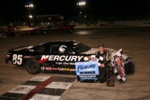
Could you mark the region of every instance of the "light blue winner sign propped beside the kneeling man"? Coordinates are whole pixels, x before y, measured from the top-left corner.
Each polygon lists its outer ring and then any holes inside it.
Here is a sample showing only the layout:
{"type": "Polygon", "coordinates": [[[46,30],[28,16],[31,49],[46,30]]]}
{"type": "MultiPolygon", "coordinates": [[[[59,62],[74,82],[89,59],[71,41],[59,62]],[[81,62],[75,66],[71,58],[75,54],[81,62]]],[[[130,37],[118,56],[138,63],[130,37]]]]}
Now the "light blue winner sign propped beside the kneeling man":
{"type": "Polygon", "coordinates": [[[99,67],[97,61],[76,62],[75,67],[78,81],[96,82],[99,79],[99,67]]]}

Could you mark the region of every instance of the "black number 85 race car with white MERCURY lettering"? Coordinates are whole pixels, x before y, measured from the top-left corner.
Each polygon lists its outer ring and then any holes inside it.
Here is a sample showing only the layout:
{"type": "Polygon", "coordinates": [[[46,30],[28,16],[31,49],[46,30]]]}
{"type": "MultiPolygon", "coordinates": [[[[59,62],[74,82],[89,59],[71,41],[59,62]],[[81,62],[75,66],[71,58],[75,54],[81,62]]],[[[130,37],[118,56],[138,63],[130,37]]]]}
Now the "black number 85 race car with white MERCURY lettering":
{"type": "MultiPolygon", "coordinates": [[[[108,52],[117,51],[105,48],[108,52]]],[[[76,72],[75,63],[94,55],[98,48],[92,48],[75,40],[50,41],[36,46],[21,46],[10,49],[6,56],[7,64],[23,66],[31,74],[41,71],[76,72]]],[[[126,73],[134,72],[134,63],[125,54],[126,73]]]]}

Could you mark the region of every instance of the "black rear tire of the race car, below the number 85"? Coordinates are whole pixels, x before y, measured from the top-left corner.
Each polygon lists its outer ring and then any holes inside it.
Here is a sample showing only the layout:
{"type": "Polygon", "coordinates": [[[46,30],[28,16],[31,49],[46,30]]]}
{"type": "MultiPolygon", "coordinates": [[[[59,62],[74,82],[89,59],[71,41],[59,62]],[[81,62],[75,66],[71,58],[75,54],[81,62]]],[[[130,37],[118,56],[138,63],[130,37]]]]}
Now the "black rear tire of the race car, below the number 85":
{"type": "Polygon", "coordinates": [[[41,72],[40,64],[35,59],[29,59],[25,63],[25,68],[30,74],[38,74],[41,72]]]}

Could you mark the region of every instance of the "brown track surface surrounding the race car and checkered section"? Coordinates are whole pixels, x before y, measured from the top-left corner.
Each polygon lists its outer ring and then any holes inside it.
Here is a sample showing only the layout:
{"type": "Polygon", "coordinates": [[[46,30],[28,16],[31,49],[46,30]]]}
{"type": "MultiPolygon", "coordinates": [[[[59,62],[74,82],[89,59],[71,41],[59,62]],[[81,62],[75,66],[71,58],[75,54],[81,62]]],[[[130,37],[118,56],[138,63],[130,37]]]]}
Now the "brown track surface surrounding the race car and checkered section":
{"type": "MultiPolygon", "coordinates": [[[[59,100],[150,99],[149,26],[102,27],[99,29],[78,29],[75,30],[74,33],[52,32],[47,35],[30,35],[13,38],[0,38],[1,96],[4,96],[6,93],[8,93],[8,91],[13,90],[15,87],[24,84],[25,82],[36,76],[61,76],[76,78],[75,75],[58,73],[40,73],[38,75],[31,75],[26,72],[25,69],[22,67],[5,64],[5,56],[8,49],[22,45],[36,45],[42,42],[48,42],[53,40],[76,40],[91,47],[97,47],[99,43],[104,43],[105,47],[108,48],[113,48],[116,50],[122,48],[123,52],[129,55],[135,63],[135,73],[127,75],[127,80],[125,83],[120,83],[117,81],[117,79],[115,79],[115,87],[107,87],[105,83],[80,83],[77,82],[77,80],[74,80],[72,81],[72,85],[60,95],[59,100]]],[[[38,98],[36,100],[44,100],[44,98],[38,98]]]]}

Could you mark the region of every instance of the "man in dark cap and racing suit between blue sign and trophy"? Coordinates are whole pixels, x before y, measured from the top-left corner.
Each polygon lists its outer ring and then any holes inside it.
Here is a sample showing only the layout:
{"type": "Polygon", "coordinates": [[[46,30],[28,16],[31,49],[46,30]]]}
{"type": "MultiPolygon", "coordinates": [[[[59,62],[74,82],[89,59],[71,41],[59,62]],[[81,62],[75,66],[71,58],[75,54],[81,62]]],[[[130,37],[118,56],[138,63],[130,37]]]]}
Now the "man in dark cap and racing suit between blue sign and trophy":
{"type": "Polygon", "coordinates": [[[110,63],[110,54],[104,50],[104,44],[99,44],[99,51],[96,52],[96,58],[99,66],[99,82],[106,81],[106,70],[110,63]]]}

